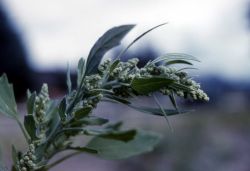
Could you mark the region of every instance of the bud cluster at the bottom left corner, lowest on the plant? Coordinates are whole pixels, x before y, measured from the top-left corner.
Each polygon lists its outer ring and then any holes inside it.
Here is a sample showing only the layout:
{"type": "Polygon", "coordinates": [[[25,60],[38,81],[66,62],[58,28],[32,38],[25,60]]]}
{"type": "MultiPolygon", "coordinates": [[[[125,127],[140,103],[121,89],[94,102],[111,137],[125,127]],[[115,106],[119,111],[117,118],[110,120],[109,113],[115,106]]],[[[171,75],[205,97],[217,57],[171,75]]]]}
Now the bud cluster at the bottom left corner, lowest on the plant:
{"type": "Polygon", "coordinates": [[[29,144],[28,151],[22,156],[17,164],[20,171],[34,170],[36,167],[35,145],[29,144]]]}

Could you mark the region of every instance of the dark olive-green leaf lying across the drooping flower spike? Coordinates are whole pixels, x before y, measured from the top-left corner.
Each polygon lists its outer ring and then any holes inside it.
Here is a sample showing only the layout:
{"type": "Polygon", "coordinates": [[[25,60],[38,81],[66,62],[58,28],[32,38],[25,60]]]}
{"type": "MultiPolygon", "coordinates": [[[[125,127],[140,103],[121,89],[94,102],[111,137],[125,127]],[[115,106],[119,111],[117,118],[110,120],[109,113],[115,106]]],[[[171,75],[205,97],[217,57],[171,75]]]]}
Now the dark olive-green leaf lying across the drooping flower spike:
{"type": "Polygon", "coordinates": [[[160,88],[169,86],[174,80],[165,77],[134,78],[131,87],[139,94],[147,95],[159,91],[160,88]]]}

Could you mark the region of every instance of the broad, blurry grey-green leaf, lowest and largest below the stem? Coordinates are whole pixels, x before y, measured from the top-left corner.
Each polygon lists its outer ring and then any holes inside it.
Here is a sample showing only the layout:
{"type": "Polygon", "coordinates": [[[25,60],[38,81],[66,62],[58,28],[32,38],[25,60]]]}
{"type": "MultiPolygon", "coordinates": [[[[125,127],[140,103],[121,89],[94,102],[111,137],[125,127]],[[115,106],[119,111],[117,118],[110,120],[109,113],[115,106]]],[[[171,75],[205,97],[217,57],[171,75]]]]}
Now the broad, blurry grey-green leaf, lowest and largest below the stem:
{"type": "Polygon", "coordinates": [[[97,156],[101,158],[115,160],[150,152],[159,143],[159,140],[159,134],[137,131],[134,139],[128,142],[96,137],[86,147],[96,150],[97,156]]]}

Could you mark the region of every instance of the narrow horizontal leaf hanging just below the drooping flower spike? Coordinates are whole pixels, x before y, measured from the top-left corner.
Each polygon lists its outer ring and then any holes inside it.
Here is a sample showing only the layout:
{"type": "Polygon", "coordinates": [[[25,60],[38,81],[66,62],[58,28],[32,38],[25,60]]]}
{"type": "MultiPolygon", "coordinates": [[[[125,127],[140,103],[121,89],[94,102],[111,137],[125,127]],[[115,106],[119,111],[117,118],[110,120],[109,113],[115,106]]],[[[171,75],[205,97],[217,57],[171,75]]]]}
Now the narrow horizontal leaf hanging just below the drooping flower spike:
{"type": "MultiPolygon", "coordinates": [[[[131,107],[137,111],[140,111],[142,113],[147,113],[147,114],[152,114],[152,115],[157,115],[157,116],[164,116],[164,113],[162,113],[161,109],[159,109],[159,108],[150,108],[150,107],[133,106],[133,105],[129,105],[129,107],[131,107]]],[[[176,110],[176,109],[164,109],[164,111],[165,111],[165,114],[167,116],[191,112],[189,110],[176,110]]]]}

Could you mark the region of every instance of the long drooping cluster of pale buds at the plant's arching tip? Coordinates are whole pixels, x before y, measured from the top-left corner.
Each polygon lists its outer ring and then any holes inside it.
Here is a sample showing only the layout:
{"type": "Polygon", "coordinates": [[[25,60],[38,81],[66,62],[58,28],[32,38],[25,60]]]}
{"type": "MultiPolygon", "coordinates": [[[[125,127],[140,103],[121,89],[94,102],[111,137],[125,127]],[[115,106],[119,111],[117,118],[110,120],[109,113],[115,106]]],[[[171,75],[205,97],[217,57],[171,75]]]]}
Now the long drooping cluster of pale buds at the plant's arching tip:
{"type": "MultiPolygon", "coordinates": [[[[166,86],[160,90],[164,95],[176,94],[180,97],[191,97],[194,100],[208,101],[207,94],[200,89],[200,85],[188,77],[188,74],[183,71],[165,65],[147,64],[143,68],[137,68],[137,58],[129,59],[127,62],[119,62],[110,73],[111,80],[118,80],[119,83],[130,84],[134,78],[163,76],[174,80],[175,83],[181,84],[186,88],[166,86]]],[[[99,69],[109,68],[110,60],[104,61],[99,69]]],[[[101,71],[101,70],[100,70],[101,71]]],[[[117,96],[130,97],[135,92],[130,86],[120,84],[112,88],[117,96]]],[[[91,103],[90,103],[91,104],[91,103]]]]}

